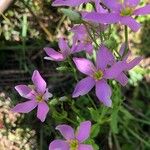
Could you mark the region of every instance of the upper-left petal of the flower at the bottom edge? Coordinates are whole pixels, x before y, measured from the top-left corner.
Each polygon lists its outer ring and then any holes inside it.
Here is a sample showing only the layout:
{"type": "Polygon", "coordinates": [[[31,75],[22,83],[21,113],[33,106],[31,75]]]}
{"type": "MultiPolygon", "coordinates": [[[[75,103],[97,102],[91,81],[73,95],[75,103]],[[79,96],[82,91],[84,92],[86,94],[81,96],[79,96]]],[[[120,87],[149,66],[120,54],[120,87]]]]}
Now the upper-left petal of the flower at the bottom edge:
{"type": "Polygon", "coordinates": [[[66,140],[74,139],[74,130],[68,125],[58,125],[56,129],[62,134],[66,140]]]}

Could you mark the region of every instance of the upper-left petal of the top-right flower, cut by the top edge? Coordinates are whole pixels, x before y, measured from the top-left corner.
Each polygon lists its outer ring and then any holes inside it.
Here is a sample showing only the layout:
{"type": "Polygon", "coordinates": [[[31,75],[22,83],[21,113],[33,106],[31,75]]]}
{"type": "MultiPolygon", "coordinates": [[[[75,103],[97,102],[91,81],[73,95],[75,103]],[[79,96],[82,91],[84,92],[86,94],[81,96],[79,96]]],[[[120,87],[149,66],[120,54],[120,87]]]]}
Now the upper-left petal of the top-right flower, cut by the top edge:
{"type": "Polygon", "coordinates": [[[119,11],[122,8],[118,0],[103,0],[103,3],[112,11],[119,11]]]}

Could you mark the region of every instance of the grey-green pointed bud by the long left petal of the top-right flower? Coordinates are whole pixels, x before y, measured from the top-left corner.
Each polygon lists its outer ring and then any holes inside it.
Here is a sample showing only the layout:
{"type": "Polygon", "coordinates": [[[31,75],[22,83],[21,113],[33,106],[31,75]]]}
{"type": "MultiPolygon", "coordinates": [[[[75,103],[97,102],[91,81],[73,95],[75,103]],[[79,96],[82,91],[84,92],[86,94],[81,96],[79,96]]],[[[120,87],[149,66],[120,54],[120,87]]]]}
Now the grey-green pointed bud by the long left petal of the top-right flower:
{"type": "Polygon", "coordinates": [[[61,8],[60,11],[64,15],[66,15],[72,22],[74,22],[74,23],[81,23],[82,22],[82,18],[78,12],[73,11],[71,9],[65,9],[65,8],[61,8]]]}

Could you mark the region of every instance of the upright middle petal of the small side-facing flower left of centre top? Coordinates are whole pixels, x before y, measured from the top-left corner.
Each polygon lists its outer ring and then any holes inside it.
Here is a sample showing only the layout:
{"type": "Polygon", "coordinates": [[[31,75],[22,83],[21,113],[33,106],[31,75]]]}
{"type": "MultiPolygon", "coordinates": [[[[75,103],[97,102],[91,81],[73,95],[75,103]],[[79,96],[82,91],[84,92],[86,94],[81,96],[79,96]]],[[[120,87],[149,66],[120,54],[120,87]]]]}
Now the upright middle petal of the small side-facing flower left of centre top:
{"type": "Polygon", "coordinates": [[[67,57],[69,54],[71,54],[71,50],[68,46],[68,43],[63,38],[59,39],[59,48],[63,54],[64,57],[67,57]]]}

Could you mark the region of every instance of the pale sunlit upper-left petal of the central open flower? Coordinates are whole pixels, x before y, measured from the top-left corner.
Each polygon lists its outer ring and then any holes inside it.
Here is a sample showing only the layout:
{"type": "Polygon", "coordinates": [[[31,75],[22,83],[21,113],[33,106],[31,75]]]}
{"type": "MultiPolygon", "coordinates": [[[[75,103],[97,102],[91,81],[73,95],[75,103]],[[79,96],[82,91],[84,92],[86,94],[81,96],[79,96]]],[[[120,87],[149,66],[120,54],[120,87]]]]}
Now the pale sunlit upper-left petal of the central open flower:
{"type": "Polygon", "coordinates": [[[93,72],[96,70],[95,66],[91,61],[85,58],[73,58],[73,61],[77,67],[77,69],[86,74],[86,75],[92,75],[93,72]]]}

